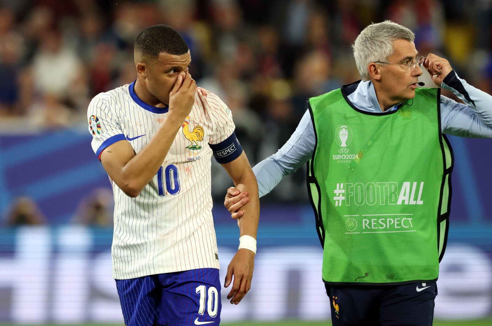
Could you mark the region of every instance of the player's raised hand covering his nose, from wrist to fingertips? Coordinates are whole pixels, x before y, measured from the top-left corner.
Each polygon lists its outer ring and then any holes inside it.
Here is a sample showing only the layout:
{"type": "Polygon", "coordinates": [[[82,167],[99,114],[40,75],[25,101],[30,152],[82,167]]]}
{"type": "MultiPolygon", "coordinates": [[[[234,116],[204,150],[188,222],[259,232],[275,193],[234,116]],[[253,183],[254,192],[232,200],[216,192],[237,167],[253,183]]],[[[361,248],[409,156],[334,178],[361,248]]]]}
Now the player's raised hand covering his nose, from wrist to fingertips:
{"type": "Polygon", "coordinates": [[[176,79],[171,93],[169,93],[169,112],[173,115],[177,114],[180,121],[185,120],[193,108],[196,88],[196,82],[191,78],[191,75],[181,73],[176,79]]]}

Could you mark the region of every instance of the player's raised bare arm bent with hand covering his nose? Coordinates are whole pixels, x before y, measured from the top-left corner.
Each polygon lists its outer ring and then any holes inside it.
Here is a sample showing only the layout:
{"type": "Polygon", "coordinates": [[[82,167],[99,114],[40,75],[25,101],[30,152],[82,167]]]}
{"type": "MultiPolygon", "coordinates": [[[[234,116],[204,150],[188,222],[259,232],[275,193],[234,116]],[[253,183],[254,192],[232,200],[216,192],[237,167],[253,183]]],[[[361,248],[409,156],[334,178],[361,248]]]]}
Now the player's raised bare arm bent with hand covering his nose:
{"type": "Polygon", "coordinates": [[[120,140],[102,151],[100,158],[104,169],[126,195],[138,196],[159,170],[193,107],[196,88],[190,74],[178,76],[169,95],[169,112],[164,123],[138,154],[127,140],[120,140]]]}

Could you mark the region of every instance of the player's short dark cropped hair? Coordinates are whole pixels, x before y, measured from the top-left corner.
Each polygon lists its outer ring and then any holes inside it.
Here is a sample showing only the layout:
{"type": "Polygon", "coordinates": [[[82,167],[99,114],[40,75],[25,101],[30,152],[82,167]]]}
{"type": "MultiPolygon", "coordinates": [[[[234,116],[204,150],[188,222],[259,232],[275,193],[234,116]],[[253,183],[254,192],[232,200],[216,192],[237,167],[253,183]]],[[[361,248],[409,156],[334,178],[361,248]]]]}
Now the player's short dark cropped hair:
{"type": "Polygon", "coordinates": [[[154,25],[145,28],[135,40],[134,51],[150,57],[160,53],[182,55],[188,52],[188,45],[183,36],[173,27],[154,25]]]}

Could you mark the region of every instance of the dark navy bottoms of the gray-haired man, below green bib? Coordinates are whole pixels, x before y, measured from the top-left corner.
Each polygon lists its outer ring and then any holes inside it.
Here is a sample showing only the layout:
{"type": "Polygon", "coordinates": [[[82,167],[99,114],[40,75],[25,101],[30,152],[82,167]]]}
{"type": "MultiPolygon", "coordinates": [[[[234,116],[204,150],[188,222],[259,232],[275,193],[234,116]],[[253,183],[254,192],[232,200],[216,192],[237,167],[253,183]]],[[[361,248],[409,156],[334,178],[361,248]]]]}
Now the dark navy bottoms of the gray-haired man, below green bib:
{"type": "Polygon", "coordinates": [[[325,288],[333,326],[432,326],[435,282],[325,288]]]}

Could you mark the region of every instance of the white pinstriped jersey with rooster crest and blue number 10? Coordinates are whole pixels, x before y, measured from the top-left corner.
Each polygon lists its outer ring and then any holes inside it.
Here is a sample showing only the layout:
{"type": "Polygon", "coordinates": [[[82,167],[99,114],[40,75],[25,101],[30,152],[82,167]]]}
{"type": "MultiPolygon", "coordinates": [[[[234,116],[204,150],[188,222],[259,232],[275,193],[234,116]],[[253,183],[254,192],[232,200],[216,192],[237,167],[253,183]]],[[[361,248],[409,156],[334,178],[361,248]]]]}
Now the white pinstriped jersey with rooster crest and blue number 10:
{"type": "MultiPolygon", "coordinates": [[[[92,149],[128,141],[135,153],[152,139],[168,108],[140,100],[134,83],[95,96],[88,109],[92,149]]],[[[198,87],[189,116],[160,169],[132,198],[110,179],[115,199],[112,244],[113,277],[219,268],[212,218],[209,144],[231,136],[230,110],[214,94],[198,87]]]]}

